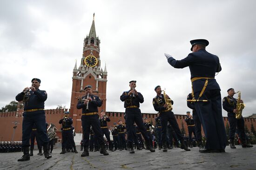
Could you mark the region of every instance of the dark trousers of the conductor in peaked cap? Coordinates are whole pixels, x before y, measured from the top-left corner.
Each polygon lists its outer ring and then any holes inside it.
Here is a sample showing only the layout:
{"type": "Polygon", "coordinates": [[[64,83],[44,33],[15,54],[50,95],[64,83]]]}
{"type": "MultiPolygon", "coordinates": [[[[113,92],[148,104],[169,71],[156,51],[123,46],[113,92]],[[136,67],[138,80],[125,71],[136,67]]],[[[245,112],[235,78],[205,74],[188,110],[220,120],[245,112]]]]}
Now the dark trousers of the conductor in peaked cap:
{"type": "MultiPolygon", "coordinates": [[[[195,98],[200,92],[195,92],[195,98]]],[[[208,102],[195,102],[195,110],[202,123],[206,137],[206,149],[223,150],[227,144],[227,136],[222,117],[222,98],[220,90],[205,90],[201,100],[208,102]]]]}

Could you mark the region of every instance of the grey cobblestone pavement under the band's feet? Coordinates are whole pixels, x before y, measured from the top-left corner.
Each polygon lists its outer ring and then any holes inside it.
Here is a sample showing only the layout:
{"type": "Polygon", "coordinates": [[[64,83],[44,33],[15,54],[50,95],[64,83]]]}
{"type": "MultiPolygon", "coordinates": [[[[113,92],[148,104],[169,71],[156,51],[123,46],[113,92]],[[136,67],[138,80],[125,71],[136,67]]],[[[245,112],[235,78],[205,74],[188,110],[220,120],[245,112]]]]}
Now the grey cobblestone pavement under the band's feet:
{"type": "MultiPolygon", "coordinates": [[[[79,147],[77,147],[79,148],[79,147]]],[[[89,152],[89,157],[81,157],[81,152],[60,154],[54,149],[52,158],[34,156],[29,161],[18,162],[23,153],[0,153],[0,170],[256,170],[256,145],[253,148],[226,148],[225,153],[200,153],[198,148],[184,151],[179,148],[154,153],[148,150],[127,150],[109,152],[103,156],[100,152],[89,152]]]]}

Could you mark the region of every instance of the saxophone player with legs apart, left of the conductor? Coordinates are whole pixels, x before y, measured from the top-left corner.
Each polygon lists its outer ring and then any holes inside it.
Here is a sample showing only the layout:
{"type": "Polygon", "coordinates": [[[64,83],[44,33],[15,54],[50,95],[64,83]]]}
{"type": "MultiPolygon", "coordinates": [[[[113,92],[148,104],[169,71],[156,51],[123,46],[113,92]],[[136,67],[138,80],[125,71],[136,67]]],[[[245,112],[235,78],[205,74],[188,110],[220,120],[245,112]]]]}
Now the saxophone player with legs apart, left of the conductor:
{"type": "MultiPolygon", "coordinates": [[[[155,111],[159,111],[160,112],[160,122],[161,122],[161,126],[162,126],[162,146],[163,146],[163,152],[167,151],[167,144],[166,144],[166,140],[167,140],[167,123],[168,121],[170,122],[170,124],[172,125],[175,133],[177,134],[178,139],[181,142],[181,149],[184,149],[186,151],[190,151],[190,149],[188,149],[188,147],[184,144],[183,141],[183,136],[182,133],[180,131],[179,125],[177,123],[177,120],[174,116],[174,113],[171,110],[168,110],[168,105],[166,104],[166,101],[164,99],[164,96],[162,93],[162,89],[160,85],[157,85],[155,87],[155,92],[156,92],[156,97],[153,98],[153,106],[155,111]]],[[[171,103],[173,105],[173,100],[171,100],[171,103]]]]}

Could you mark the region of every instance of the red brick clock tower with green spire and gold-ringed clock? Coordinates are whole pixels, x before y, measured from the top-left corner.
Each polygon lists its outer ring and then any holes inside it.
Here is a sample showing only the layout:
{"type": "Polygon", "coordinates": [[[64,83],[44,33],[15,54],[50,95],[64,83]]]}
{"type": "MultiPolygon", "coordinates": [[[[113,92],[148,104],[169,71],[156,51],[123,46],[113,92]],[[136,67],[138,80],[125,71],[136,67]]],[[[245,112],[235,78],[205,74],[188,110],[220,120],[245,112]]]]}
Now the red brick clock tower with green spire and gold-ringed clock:
{"type": "Polygon", "coordinates": [[[100,39],[96,36],[94,15],[93,23],[90,29],[89,35],[84,39],[83,55],[81,58],[81,64],[77,69],[77,63],[75,62],[73,70],[73,85],[70,104],[70,117],[73,117],[73,125],[75,131],[80,133],[81,130],[81,113],[82,110],[76,109],[78,99],[85,96],[83,90],[86,85],[92,85],[93,94],[101,98],[102,106],[99,109],[106,110],[106,88],[107,88],[107,68],[105,64],[104,71],[101,68],[100,58],[100,39]]]}

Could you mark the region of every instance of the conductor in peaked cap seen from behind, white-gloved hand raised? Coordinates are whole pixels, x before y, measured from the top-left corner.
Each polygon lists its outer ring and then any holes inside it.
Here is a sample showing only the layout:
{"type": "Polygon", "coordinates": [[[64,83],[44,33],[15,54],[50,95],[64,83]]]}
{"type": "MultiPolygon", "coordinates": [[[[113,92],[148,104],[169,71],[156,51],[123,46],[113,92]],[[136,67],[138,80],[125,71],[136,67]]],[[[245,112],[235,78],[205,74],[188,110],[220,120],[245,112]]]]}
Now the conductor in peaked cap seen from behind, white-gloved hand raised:
{"type": "Polygon", "coordinates": [[[215,79],[215,73],[222,70],[220,61],[216,55],[205,50],[208,40],[194,39],[190,43],[192,53],[186,58],[175,60],[169,54],[165,56],[175,68],[189,66],[195,110],[207,140],[205,148],[199,152],[225,152],[227,136],[222,118],[221,89],[215,79]]]}

